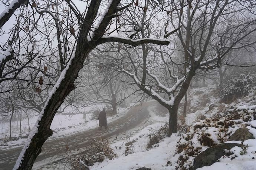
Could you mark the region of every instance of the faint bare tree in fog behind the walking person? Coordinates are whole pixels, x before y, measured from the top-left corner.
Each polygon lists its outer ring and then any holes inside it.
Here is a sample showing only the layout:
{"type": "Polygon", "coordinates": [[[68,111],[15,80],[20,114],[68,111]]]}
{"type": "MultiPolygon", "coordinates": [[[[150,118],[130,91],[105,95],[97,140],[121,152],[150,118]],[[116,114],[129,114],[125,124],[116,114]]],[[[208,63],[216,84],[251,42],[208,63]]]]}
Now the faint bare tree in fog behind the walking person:
{"type": "MultiPolygon", "coordinates": [[[[101,49],[106,51],[108,48],[102,46],[101,49]]],[[[104,103],[111,106],[111,114],[115,115],[118,113],[118,106],[129,96],[129,87],[125,83],[128,77],[122,77],[112,68],[114,61],[108,53],[102,52],[99,47],[93,51],[79,74],[81,88],[78,88],[78,91],[86,94],[83,97],[86,106],[104,103]]]]}

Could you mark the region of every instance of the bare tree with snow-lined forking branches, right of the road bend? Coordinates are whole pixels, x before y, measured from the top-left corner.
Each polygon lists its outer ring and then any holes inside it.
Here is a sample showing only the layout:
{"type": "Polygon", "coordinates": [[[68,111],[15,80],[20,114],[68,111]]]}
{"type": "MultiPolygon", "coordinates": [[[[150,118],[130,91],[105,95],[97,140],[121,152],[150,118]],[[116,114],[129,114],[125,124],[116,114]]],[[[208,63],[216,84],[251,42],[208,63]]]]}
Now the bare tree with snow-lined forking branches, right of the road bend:
{"type": "MultiPolygon", "coordinates": [[[[174,0],[171,6],[163,3],[160,6],[163,11],[168,11],[168,20],[161,37],[173,40],[171,50],[161,46],[152,50],[152,45],[145,44],[140,46],[142,55],[134,49],[124,52],[125,59],[118,59],[119,70],[169,110],[169,136],[177,132],[178,105],[197,72],[227,64],[229,61],[224,61],[230,52],[255,44],[252,35],[256,30],[256,20],[251,12],[255,9],[255,2],[174,0]],[[230,20],[236,22],[230,25],[230,20]],[[176,36],[171,37],[168,29],[177,28],[180,29],[173,34],[176,36]],[[177,51],[183,54],[180,59],[177,51]]],[[[141,16],[146,16],[145,10],[141,13],[141,16]]],[[[147,37],[153,33],[152,23],[142,17],[138,34],[147,37]]]]}

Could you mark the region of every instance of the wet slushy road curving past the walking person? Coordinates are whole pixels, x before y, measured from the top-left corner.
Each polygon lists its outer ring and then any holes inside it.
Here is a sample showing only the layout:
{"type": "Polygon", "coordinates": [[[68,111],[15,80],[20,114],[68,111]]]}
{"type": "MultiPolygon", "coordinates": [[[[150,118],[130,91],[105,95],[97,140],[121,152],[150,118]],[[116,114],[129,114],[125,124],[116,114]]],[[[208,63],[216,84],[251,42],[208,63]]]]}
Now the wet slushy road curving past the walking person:
{"type": "MultiPolygon", "coordinates": [[[[148,114],[147,107],[154,105],[156,102],[151,101],[143,103],[141,106],[135,106],[128,110],[128,112],[119,119],[108,123],[108,129],[102,130],[104,137],[113,137],[119,133],[125,132],[126,130],[135,128],[147,119],[150,115],[148,114]]],[[[103,128],[104,129],[104,128],[103,128]]],[[[42,152],[36,159],[35,166],[43,166],[43,164],[49,163],[54,159],[54,157],[60,153],[63,153],[68,146],[69,150],[75,150],[78,147],[86,147],[89,145],[89,139],[98,138],[101,136],[101,131],[98,128],[88,129],[85,132],[79,132],[75,134],[70,134],[69,136],[64,136],[62,138],[58,137],[55,139],[47,140],[42,147],[42,152]]],[[[16,162],[17,157],[21,151],[22,147],[16,147],[13,149],[6,149],[0,151],[0,169],[11,170],[16,162]]],[[[34,169],[34,168],[33,168],[34,169]]],[[[37,169],[37,168],[36,168],[37,169]]]]}

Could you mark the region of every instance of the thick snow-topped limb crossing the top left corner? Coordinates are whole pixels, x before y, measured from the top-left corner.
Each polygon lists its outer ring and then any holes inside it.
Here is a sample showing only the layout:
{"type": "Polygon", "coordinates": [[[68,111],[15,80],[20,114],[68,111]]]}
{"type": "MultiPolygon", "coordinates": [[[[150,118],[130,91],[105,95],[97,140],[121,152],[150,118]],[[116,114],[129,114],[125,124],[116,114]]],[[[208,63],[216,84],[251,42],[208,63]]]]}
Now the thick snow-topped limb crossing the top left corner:
{"type": "Polygon", "coordinates": [[[10,19],[14,11],[21,5],[26,4],[27,0],[13,0],[12,3],[0,14],[0,28],[10,19]]]}

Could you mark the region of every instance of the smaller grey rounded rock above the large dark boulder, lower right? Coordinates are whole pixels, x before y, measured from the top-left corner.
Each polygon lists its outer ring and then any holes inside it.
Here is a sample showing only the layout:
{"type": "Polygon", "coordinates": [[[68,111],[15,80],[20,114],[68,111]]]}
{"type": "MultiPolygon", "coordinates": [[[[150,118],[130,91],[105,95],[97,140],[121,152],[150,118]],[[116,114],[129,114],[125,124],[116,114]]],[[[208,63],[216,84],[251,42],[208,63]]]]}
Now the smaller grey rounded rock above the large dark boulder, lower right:
{"type": "Polygon", "coordinates": [[[236,132],[233,133],[229,137],[229,140],[247,140],[247,139],[255,139],[253,137],[252,133],[249,132],[248,128],[239,128],[236,130],[236,132]]]}

